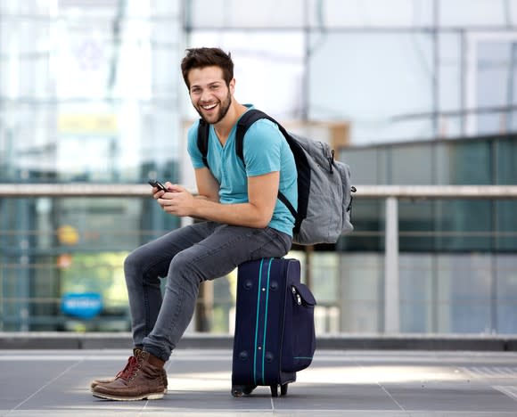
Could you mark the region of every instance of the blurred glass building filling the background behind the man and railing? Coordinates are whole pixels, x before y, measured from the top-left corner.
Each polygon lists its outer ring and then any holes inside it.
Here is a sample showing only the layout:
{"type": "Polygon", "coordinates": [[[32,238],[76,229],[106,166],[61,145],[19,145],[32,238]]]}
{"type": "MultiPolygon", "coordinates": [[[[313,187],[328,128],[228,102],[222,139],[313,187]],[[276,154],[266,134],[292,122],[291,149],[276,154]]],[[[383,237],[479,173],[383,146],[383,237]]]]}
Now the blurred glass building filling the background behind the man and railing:
{"type": "MultiPolygon", "coordinates": [[[[517,183],[517,0],[0,0],[0,183],[193,187],[185,48],[236,97],[332,143],[356,231],[293,248],[319,332],[382,332],[384,201],[361,184],[517,183]]],[[[401,200],[396,331],[517,332],[515,200],[401,200]]],[[[127,331],[128,251],[180,225],[149,198],[0,195],[0,331],[127,331]]],[[[232,331],[233,274],[191,330],[232,331]]]]}

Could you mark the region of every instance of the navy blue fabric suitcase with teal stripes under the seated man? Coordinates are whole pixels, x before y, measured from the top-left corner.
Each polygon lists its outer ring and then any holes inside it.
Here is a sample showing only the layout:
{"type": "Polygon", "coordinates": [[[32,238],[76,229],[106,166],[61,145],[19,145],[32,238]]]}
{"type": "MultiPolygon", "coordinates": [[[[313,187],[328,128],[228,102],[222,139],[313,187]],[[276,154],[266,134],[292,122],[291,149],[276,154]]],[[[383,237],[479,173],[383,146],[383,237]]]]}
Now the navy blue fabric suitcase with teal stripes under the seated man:
{"type": "Polygon", "coordinates": [[[269,386],[287,394],[296,372],[307,368],[316,349],[316,300],[300,283],[296,259],[264,258],[239,266],[235,312],[232,395],[269,386]]]}

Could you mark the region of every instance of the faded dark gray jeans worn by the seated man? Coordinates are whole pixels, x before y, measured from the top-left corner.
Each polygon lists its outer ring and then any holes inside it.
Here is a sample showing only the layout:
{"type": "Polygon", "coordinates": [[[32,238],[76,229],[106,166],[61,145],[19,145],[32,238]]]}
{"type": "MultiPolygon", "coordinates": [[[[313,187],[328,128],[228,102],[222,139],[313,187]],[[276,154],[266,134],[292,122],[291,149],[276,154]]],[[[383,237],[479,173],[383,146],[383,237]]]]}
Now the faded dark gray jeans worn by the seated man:
{"type": "Polygon", "coordinates": [[[224,276],[243,262],[281,258],[291,237],[267,227],[203,222],[176,229],[126,258],[135,346],[167,361],[190,323],[201,282],[224,276]],[[160,277],[167,277],[165,292],[160,277]]]}

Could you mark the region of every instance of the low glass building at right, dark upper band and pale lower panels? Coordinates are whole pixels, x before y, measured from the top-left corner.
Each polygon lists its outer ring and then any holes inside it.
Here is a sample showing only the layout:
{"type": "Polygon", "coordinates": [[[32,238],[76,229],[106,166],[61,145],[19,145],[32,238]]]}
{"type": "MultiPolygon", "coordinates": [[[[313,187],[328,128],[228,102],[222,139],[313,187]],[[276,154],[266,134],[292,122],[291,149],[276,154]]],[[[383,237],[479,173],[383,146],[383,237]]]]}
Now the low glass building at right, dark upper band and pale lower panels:
{"type": "MultiPolygon", "coordinates": [[[[357,184],[517,180],[516,135],[350,147],[341,158],[357,184]]],[[[347,331],[383,329],[384,207],[356,199],[356,231],[337,245],[347,331]]],[[[505,199],[398,201],[400,331],[517,331],[516,212],[517,201],[505,199]]]]}

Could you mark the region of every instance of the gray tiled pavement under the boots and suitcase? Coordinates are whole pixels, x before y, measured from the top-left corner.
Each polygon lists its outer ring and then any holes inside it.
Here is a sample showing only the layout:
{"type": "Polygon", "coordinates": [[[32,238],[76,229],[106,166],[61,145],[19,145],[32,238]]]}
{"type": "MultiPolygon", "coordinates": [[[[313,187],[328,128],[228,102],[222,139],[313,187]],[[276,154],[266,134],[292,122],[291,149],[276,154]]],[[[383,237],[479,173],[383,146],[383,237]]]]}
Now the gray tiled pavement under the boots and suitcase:
{"type": "Polygon", "coordinates": [[[269,388],[234,398],[231,351],[178,349],[160,400],[95,398],[89,381],[129,351],[0,350],[0,415],[517,416],[517,353],[321,350],[285,397],[269,388]]]}

